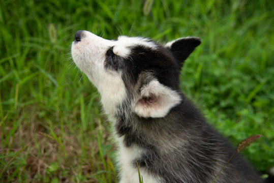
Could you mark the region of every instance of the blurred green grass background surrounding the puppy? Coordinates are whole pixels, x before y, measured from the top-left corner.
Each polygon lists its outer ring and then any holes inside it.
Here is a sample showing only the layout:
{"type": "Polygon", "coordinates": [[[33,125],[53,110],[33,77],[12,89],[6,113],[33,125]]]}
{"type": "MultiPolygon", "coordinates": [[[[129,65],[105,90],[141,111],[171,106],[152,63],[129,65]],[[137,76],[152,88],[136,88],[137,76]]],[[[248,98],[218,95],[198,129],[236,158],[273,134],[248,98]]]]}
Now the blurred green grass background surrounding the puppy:
{"type": "Polygon", "coordinates": [[[162,0],[145,12],[139,0],[0,5],[1,182],[116,182],[100,96],[70,55],[78,29],[105,39],[200,37],[182,90],[235,146],[263,135],[243,154],[258,171],[274,166],[273,1],[162,0]]]}

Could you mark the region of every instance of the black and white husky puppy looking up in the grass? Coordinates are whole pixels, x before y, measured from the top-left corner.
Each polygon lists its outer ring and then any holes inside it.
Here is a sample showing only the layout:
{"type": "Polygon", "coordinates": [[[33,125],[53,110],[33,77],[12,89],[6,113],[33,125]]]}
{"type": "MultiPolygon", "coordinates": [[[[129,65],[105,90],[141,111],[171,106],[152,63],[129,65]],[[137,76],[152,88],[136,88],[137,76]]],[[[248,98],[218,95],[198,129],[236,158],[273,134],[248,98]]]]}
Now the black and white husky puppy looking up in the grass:
{"type": "MultiPolygon", "coordinates": [[[[234,153],[179,89],[182,64],[199,38],[160,45],[77,31],[72,57],[98,88],[117,140],[120,183],[212,182],[234,153]]],[[[236,155],[215,182],[261,182],[236,155]]]]}

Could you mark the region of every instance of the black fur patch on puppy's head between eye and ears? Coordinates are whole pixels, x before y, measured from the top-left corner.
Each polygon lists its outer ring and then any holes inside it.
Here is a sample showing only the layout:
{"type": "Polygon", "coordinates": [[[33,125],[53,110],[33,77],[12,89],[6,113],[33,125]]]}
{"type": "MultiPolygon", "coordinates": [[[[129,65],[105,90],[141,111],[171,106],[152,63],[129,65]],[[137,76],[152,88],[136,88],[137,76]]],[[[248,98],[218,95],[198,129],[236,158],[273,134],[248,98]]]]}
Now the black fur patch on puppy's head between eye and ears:
{"type": "Polygon", "coordinates": [[[173,59],[171,52],[159,46],[158,50],[143,46],[130,48],[129,58],[123,63],[123,78],[126,85],[136,83],[141,72],[151,72],[158,81],[172,89],[178,90],[179,66],[173,59]]]}

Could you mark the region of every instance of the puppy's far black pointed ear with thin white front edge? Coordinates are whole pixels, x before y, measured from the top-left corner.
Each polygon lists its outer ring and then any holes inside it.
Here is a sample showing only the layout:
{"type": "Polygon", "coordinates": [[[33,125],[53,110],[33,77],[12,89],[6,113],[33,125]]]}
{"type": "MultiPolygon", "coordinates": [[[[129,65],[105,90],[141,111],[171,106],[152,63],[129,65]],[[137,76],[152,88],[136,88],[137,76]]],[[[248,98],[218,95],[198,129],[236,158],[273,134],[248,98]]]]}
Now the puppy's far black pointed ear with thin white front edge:
{"type": "Polygon", "coordinates": [[[176,58],[181,67],[192,51],[201,44],[201,39],[196,37],[179,38],[175,41],[166,43],[172,55],[176,58]]]}

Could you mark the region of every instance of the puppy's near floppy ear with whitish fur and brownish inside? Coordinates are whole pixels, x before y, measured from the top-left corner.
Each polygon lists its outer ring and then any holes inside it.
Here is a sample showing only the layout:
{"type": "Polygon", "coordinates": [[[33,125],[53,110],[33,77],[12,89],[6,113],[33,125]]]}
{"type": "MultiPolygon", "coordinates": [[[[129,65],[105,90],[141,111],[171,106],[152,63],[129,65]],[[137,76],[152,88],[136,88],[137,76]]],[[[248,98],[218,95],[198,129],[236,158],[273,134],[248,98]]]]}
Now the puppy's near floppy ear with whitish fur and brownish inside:
{"type": "Polygon", "coordinates": [[[181,96],[174,90],[164,86],[157,80],[145,84],[133,110],[141,117],[164,117],[182,101],[181,96]]]}

